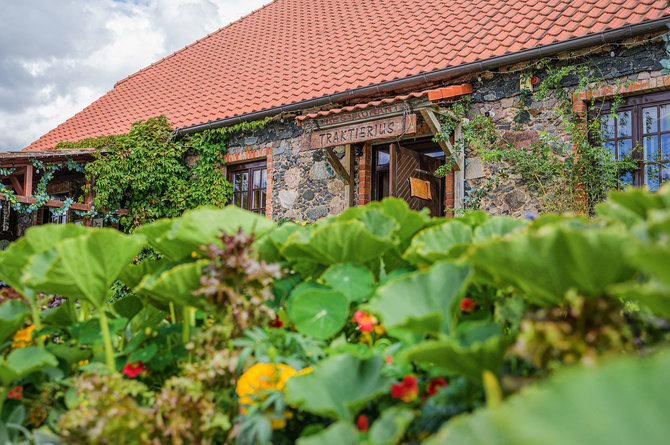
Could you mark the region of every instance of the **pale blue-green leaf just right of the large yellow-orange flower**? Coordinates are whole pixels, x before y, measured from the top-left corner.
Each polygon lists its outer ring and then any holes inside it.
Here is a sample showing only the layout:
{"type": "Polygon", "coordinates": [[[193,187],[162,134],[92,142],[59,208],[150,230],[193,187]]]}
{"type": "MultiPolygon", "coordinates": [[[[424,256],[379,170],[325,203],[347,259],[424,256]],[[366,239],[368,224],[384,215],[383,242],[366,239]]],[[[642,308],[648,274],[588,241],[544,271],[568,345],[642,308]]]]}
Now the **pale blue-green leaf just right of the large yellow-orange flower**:
{"type": "Polygon", "coordinates": [[[286,402],[310,413],[353,421],[375,397],[388,392],[391,379],[382,375],[384,359],[333,355],[312,372],[286,382],[286,402]]]}

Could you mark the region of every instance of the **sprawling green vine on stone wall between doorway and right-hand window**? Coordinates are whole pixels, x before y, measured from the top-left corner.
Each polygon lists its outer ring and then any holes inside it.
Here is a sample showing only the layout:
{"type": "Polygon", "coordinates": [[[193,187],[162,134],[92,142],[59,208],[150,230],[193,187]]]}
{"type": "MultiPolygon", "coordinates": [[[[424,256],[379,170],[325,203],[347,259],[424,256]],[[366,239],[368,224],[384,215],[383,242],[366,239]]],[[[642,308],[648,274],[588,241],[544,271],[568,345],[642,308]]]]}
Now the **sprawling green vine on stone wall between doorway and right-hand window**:
{"type": "MultiPolygon", "coordinates": [[[[468,101],[454,104],[451,112],[442,116],[442,131],[435,140],[449,140],[457,123],[462,122],[462,136],[455,141],[454,152],[467,149],[471,156],[478,156],[485,165],[493,167],[476,187],[466,190],[466,210],[479,209],[489,194],[495,193],[514,175],[534,193],[545,211],[592,213],[609,190],[625,188],[622,178],[639,167],[635,160],[639,147],[617,160],[604,144],[601,111],[605,98],[599,104],[592,104],[591,115],[586,120],[573,111],[573,90],[562,85],[567,76],[576,75],[579,83],[575,90],[585,91],[598,88],[604,76],[589,75],[591,67],[587,64],[553,68],[548,61],[540,61],[534,69],[544,70],[545,79],[535,93],[521,93],[511,132],[500,130],[491,117],[472,116],[468,101]],[[523,115],[528,113],[529,104],[532,100],[547,99],[550,94],[557,99],[553,112],[562,137],[542,131],[537,142],[529,147],[518,147],[523,115]]],[[[620,84],[626,85],[626,82],[620,84]]],[[[611,100],[609,113],[616,115],[622,97],[615,95],[611,100]]],[[[447,159],[436,174],[445,176],[455,163],[454,157],[447,159]]]]}

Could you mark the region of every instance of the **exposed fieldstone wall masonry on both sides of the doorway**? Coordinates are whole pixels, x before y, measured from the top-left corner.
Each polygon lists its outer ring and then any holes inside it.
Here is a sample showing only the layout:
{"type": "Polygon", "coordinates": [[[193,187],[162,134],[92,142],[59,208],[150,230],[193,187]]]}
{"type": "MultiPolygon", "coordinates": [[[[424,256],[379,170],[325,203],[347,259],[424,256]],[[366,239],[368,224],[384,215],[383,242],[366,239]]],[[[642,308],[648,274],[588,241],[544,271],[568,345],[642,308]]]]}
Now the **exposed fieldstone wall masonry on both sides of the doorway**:
{"type": "MultiPolygon", "coordinates": [[[[658,76],[661,69],[660,60],[668,57],[663,42],[660,39],[652,43],[639,40],[638,38],[611,47],[590,48],[581,52],[585,56],[576,58],[559,55],[558,58],[563,57],[563,60],[556,61],[554,66],[589,63],[593,66],[593,74],[604,76],[612,83],[658,76]]],[[[543,133],[561,137],[561,128],[553,111],[557,105],[556,98],[550,94],[547,99],[535,102],[519,91],[520,76],[529,69],[528,67],[528,64],[504,67],[495,73],[484,72],[449,82],[472,84],[473,115],[488,113],[504,137],[515,140],[518,147],[529,147],[537,142],[543,133]],[[523,104],[525,111],[520,113],[522,100],[526,101],[523,104]],[[521,127],[520,130],[514,131],[514,119],[517,115],[521,127]]],[[[547,77],[542,71],[533,72],[533,75],[540,81],[547,77]]],[[[577,76],[567,76],[563,80],[563,86],[568,90],[574,90],[578,82],[577,76]]],[[[339,214],[347,206],[344,183],[336,175],[324,152],[321,149],[311,149],[307,141],[308,134],[296,125],[293,118],[287,117],[281,121],[271,122],[263,130],[237,135],[230,143],[228,154],[251,152],[262,148],[272,149],[271,216],[275,220],[293,217],[300,221],[311,222],[328,215],[339,214]]],[[[567,140],[565,142],[567,146],[569,142],[567,140]]],[[[360,146],[355,148],[354,202],[359,202],[358,170],[363,150],[360,146]]],[[[338,157],[344,157],[343,146],[336,147],[335,152],[338,157]]],[[[476,154],[467,151],[466,164],[473,157],[476,157],[476,154]]],[[[494,173],[500,167],[486,164],[481,166],[485,175],[494,173]]],[[[481,171],[479,165],[477,171],[481,171]]],[[[484,178],[481,177],[467,179],[466,196],[472,190],[481,187],[483,181],[484,178]]],[[[542,210],[537,196],[528,190],[520,177],[510,177],[508,181],[489,193],[482,203],[482,208],[491,214],[517,217],[536,214],[542,210]]]]}

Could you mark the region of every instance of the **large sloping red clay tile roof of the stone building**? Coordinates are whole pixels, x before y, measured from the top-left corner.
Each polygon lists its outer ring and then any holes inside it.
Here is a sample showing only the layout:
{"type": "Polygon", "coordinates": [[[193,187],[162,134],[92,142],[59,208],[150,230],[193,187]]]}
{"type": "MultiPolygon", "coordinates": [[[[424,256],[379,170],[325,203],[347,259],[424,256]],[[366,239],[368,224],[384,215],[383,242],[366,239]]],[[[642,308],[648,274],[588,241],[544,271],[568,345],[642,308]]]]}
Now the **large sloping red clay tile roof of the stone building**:
{"type": "Polygon", "coordinates": [[[175,128],[670,15],[666,0],[275,0],[118,82],[27,149],[175,128]]]}

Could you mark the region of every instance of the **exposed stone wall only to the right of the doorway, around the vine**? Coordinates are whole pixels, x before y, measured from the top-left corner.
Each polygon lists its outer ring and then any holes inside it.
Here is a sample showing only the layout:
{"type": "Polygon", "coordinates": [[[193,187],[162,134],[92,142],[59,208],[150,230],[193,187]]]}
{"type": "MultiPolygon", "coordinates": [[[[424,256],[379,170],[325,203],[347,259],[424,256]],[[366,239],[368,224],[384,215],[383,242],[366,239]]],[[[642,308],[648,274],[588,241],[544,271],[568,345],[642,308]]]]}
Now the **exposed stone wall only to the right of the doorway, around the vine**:
{"type": "MultiPolygon", "coordinates": [[[[582,53],[588,53],[588,55],[557,60],[553,62],[553,66],[587,63],[591,67],[589,75],[602,78],[611,84],[659,76],[660,60],[668,57],[662,41],[657,39],[647,43],[633,41],[627,43],[628,45],[587,49],[582,53]]],[[[480,73],[468,79],[461,79],[473,85],[471,117],[476,114],[488,114],[505,139],[516,139],[517,147],[528,147],[537,142],[543,133],[547,133],[559,140],[564,140],[566,147],[570,148],[569,141],[558,122],[557,114],[553,111],[557,105],[555,94],[550,92],[547,99],[536,102],[531,98],[525,99],[520,93],[520,77],[528,70],[528,67],[528,64],[504,67],[494,73],[480,73]],[[522,107],[523,100],[526,100],[526,103],[522,107]],[[519,114],[522,108],[525,111],[519,114]],[[515,134],[513,128],[517,115],[519,115],[521,126],[515,134]]],[[[545,71],[532,72],[532,75],[537,76],[540,82],[547,77],[545,71]]],[[[574,91],[578,83],[577,76],[569,75],[563,79],[562,85],[567,90],[574,91]]],[[[470,162],[473,157],[476,157],[475,153],[466,152],[466,163],[470,162]]],[[[499,168],[501,168],[500,165],[483,166],[484,173],[488,176],[494,174],[499,168]]],[[[482,187],[484,182],[484,178],[466,180],[466,197],[482,187]]],[[[489,193],[483,200],[481,208],[491,214],[517,217],[534,215],[543,210],[537,194],[530,191],[527,184],[518,176],[504,181],[489,193]]]]}

